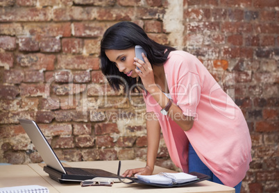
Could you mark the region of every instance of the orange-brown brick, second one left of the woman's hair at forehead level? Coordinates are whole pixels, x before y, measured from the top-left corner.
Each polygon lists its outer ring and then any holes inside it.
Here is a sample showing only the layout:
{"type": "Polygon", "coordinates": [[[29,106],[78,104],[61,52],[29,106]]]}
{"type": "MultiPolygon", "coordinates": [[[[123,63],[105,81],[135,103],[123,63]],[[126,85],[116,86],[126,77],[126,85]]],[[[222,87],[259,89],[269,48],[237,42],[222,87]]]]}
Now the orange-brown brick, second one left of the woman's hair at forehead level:
{"type": "Polygon", "coordinates": [[[28,67],[28,69],[46,69],[53,70],[56,56],[45,55],[43,53],[28,53],[20,54],[17,56],[17,62],[22,67],[28,67]]]}

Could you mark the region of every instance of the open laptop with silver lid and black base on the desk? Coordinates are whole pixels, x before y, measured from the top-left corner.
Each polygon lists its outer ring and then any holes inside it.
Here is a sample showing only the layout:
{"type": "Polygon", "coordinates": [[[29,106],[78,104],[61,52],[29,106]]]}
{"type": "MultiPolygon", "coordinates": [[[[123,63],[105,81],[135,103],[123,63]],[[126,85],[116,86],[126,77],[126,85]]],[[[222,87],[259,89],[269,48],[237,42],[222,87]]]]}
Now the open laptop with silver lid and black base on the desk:
{"type": "Polygon", "coordinates": [[[35,121],[28,119],[19,119],[19,123],[22,125],[27,135],[30,137],[35,148],[40,153],[42,160],[46,163],[44,171],[49,174],[50,178],[59,183],[65,183],[67,181],[85,181],[92,178],[110,178],[117,182],[117,174],[113,174],[103,169],[88,169],[78,167],[63,167],[60,160],[54,153],[46,137],[44,137],[39,126],[35,121]]]}

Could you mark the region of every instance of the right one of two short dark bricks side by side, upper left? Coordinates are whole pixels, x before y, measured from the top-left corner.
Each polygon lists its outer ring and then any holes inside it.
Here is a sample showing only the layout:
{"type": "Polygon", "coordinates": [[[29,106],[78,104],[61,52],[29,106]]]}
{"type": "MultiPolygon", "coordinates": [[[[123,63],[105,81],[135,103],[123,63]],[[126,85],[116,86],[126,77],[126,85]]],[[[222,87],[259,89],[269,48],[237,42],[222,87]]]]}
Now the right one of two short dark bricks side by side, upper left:
{"type": "Polygon", "coordinates": [[[40,41],[41,52],[59,52],[61,50],[60,38],[45,37],[40,41]]]}

